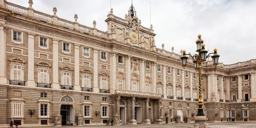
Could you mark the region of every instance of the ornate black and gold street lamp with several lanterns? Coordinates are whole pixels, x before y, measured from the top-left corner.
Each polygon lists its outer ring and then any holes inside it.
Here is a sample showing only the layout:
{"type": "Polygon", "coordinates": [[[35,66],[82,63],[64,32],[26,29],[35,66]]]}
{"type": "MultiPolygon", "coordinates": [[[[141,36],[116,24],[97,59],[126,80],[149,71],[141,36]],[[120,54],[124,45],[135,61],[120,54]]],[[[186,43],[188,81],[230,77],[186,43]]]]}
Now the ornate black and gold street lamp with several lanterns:
{"type": "Polygon", "coordinates": [[[195,54],[195,55],[191,55],[191,54],[186,54],[186,51],[184,50],[183,51],[183,55],[182,57],[180,57],[181,59],[181,62],[182,62],[182,67],[185,68],[186,67],[186,64],[187,64],[187,59],[188,57],[186,55],[189,55],[192,59],[193,59],[193,63],[194,63],[194,67],[196,70],[198,70],[198,73],[199,73],[199,77],[198,77],[198,83],[199,83],[199,92],[198,92],[198,113],[196,115],[196,117],[198,116],[202,116],[202,117],[205,117],[204,115],[204,112],[203,112],[203,99],[202,99],[202,79],[201,79],[201,68],[202,68],[202,64],[205,63],[206,61],[206,58],[208,58],[210,56],[210,54],[213,54],[211,57],[212,57],[212,60],[213,60],[213,65],[214,67],[216,68],[216,66],[218,65],[218,60],[219,60],[219,57],[220,55],[217,54],[217,49],[215,48],[213,51],[214,53],[208,53],[208,51],[205,50],[205,45],[203,44],[203,40],[201,39],[201,35],[199,34],[198,36],[198,39],[196,41],[196,45],[197,45],[197,50],[196,52],[198,52],[198,54],[195,54]]]}

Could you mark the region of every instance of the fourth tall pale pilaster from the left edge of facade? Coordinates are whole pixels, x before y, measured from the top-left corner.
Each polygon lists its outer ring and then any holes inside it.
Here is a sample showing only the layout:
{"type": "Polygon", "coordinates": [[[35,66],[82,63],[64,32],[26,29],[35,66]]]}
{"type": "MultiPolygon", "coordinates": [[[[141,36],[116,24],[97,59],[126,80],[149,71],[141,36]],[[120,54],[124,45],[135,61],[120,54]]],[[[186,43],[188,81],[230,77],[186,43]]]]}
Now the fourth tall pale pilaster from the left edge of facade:
{"type": "Polygon", "coordinates": [[[80,91],[80,77],[79,77],[79,46],[75,44],[75,82],[74,82],[74,90],[80,91]]]}

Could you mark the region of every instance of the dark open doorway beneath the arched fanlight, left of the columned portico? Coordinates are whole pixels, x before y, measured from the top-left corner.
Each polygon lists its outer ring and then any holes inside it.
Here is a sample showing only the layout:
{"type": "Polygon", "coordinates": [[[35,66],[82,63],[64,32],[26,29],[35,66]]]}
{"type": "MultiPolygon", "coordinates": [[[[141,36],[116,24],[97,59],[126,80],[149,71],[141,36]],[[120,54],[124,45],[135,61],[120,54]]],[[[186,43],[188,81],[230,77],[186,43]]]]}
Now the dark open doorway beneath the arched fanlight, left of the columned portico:
{"type": "Polygon", "coordinates": [[[62,115],[62,125],[73,125],[73,111],[72,105],[61,105],[60,115],[62,115]]]}

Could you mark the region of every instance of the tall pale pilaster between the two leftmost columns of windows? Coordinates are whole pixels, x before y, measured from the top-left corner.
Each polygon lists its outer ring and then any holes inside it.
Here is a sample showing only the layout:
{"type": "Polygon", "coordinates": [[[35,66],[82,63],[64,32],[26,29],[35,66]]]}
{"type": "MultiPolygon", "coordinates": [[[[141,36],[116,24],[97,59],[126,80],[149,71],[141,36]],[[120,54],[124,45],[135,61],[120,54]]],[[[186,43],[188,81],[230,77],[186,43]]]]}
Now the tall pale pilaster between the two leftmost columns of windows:
{"type": "Polygon", "coordinates": [[[28,33],[28,81],[27,86],[35,87],[34,80],[34,38],[35,34],[28,33]]]}

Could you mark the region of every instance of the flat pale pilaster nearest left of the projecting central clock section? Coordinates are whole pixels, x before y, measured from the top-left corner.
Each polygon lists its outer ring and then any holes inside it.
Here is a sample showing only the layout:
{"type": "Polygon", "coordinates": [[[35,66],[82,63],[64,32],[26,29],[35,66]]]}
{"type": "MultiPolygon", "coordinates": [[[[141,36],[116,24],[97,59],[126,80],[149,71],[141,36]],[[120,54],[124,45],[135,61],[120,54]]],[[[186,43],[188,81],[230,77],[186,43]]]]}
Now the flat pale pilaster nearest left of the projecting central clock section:
{"type": "Polygon", "coordinates": [[[93,92],[99,92],[98,86],[98,50],[93,49],[93,92]]]}

